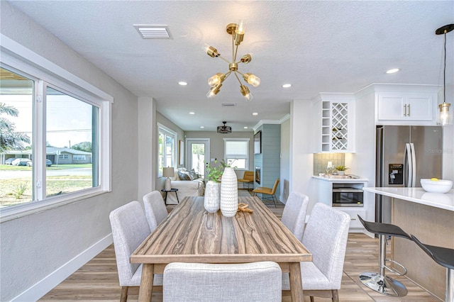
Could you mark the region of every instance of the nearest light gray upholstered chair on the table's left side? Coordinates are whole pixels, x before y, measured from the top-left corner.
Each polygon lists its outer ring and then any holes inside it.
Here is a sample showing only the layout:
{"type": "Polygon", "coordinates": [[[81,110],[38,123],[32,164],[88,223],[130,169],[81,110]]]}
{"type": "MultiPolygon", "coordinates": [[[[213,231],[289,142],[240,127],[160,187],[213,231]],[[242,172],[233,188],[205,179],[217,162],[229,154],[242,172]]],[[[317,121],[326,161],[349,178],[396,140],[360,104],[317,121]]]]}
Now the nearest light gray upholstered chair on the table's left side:
{"type": "MultiPolygon", "coordinates": [[[[129,257],[150,235],[150,228],[138,201],[131,201],[111,211],[109,219],[111,220],[116,266],[121,286],[120,301],[126,302],[128,290],[132,286],[140,286],[142,276],[142,264],[130,263],[129,257]]],[[[162,286],[162,275],[155,275],[153,285],[162,286]]]]}

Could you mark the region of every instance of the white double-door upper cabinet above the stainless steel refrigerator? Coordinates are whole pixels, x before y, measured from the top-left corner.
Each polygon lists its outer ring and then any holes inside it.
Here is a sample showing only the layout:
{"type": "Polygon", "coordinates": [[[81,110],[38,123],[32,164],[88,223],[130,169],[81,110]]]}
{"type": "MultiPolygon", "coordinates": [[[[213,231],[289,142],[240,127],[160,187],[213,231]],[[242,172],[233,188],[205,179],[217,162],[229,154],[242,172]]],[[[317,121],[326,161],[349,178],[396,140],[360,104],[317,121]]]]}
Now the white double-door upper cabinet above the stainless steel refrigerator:
{"type": "Polygon", "coordinates": [[[433,121],[433,93],[377,93],[377,121],[433,121]]]}

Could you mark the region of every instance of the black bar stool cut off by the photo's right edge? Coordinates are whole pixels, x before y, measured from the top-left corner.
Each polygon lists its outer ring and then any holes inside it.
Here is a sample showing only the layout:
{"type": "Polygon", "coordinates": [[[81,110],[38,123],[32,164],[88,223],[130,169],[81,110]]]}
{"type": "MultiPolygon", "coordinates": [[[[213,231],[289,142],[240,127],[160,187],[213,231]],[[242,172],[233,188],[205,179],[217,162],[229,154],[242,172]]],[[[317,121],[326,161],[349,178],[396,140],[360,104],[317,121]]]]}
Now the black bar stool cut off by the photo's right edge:
{"type": "Polygon", "coordinates": [[[454,301],[454,250],[448,247],[435,247],[433,245],[425,245],[418,238],[411,235],[411,239],[419,245],[421,249],[429,255],[433,261],[446,268],[446,292],[445,301],[454,301]]]}

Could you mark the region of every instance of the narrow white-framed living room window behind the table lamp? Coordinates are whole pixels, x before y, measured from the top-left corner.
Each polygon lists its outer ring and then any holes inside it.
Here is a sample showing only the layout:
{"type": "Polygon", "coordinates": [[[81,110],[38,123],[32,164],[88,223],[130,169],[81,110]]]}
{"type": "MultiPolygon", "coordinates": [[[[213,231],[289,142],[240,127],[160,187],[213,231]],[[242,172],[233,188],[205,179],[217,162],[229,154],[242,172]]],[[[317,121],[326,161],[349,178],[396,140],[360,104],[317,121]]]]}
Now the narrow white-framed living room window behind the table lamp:
{"type": "Polygon", "coordinates": [[[157,125],[159,136],[158,136],[158,177],[162,177],[163,167],[176,167],[176,141],[177,133],[165,127],[164,125],[157,125]]]}

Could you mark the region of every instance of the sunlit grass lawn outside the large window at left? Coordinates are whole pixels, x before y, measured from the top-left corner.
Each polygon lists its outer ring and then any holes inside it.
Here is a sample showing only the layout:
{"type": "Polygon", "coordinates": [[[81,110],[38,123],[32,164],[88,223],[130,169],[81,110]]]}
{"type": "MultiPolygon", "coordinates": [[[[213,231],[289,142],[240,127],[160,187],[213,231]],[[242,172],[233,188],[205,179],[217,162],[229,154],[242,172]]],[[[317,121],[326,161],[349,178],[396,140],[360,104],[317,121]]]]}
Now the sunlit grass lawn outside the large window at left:
{"type": "MultiPolygon", "coordinates": [[[[62,169],[74,169],[77,168],[91,168],[92,164],[59,164],[47,167],[46,171],[49,170],[62,170],[62,169]]],[[[15,173],[16,171],[30,172],[28,177],[18,178],[1,178],[0,179],[0,207],[14,206],[20,203],[27,203],[32,201],[32,179],[31,171],[32,167],[17,167],[2,164],[0,165],[0,172],[15,173]]],[[[91,175],[77,175],[72,173],[68,175],[55,175],[46,177],[46,194],[47,196],[55,196],[60,194],[66,194],[82,189],[92,187],[92,176],[91,175]]]]}

